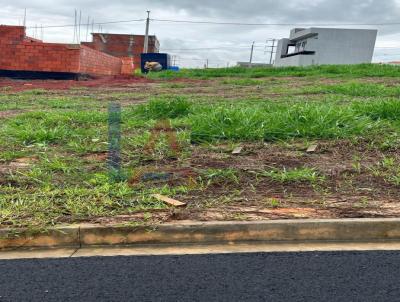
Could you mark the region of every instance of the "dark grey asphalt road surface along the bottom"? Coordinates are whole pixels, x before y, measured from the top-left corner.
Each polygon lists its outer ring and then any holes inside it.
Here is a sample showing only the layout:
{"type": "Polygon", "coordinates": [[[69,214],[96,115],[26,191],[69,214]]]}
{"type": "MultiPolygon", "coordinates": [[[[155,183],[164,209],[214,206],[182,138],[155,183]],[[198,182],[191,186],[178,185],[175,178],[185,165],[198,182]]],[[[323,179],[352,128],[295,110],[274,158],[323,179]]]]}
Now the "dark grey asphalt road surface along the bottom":
{"type": "Polygon", "coordinates": [[[0,301],[400,301],[400,252],[4,260],[0,301]]]}

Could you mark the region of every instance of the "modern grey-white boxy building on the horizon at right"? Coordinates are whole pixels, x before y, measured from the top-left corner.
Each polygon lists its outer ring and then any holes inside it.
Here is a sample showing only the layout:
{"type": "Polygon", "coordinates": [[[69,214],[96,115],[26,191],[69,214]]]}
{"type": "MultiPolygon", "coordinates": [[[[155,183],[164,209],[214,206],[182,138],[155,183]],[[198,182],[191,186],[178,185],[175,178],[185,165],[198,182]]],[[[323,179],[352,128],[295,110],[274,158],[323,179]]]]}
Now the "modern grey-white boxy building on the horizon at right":
{"type": "Polygon", "coordinates": [[[377,30],[295,28],[278,42],[274,66],[371,63],[377,30]]]}

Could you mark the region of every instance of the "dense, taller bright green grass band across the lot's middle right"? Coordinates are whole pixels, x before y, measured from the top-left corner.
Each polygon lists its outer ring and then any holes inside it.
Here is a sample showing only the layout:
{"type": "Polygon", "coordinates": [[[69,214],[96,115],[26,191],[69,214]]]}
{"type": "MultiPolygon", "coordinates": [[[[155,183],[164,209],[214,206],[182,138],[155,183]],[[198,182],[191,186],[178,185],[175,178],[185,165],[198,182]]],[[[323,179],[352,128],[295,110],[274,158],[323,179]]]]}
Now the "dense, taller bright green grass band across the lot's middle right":
{"type": "Polygon", "coordinates": [[[182,97],[152,98],[132,112],[142,119],[175,119],[189,127],[192,142],[277,141],[292,138],[339,139],[395,133],[399,127],[397,99],[319,102],[236,102],[194,104],[182,97]]]}

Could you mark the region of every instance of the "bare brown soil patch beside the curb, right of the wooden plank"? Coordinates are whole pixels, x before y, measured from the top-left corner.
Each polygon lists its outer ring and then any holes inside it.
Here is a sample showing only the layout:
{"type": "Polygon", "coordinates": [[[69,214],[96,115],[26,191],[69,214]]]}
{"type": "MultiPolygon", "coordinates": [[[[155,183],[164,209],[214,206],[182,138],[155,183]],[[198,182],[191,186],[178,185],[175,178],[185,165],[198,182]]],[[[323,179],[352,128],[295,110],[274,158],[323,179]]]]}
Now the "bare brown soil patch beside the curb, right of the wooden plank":
{"type": "MultiPolygon", "coordinates": [[[[162,220],[254,220],[296,218],[398,217],[400,186],[383,177],[373,176],[370,168],[383,158],[367,145],[347,141],[320,142],[315,153],[306,146],[293,144],[246,144],[240,155],[232,155],[224,146],[219,150],[195,147],[190,159],[149,163],[146,172],[172,173],[165,182],[149,186],[186,185],[187,194],[175,196],[187,209],[158,212],[162,220]],[[352,150],[349,152],[349,150],[352,150]],[[361,170],[354,168],[354,157],[361,158],[361,170]],[[182,165],[181,169],[176,166],[182,165]],[[175,167],[175,168],[171,168],[175,167]],[[280,183],[256,176],[257,171],[315,168],[325,177],[318,184],[280,183]],[[198,176],[206,169],[234,169],[238,183],[219,179],[200,189],[198,176]],[[184,171],[184,173],[182,173],[184,171]]],[[[400,159],[398,154],[385,154],[400,159]]],[[[206,182],[206,180],[205,180],[206,182]]],[[[134,185],[134,183],[133,183],[134,185]]],[[[158,219],[158,218],[157,218],[158,219]]]]}

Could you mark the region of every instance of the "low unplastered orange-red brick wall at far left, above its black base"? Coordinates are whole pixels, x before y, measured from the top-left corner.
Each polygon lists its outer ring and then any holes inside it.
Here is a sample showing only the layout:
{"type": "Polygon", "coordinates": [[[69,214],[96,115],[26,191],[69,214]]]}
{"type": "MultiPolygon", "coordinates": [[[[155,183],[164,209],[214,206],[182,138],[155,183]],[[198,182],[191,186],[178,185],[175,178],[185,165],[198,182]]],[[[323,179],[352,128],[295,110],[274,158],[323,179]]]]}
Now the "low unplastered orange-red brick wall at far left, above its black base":
{"type": "Polygon", "coordinates": [[[75,44],[44,43],[26,37],[23,26],[0,26],[0,70],[119,75],[121,68],[120,58],[75,44]]]}

